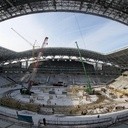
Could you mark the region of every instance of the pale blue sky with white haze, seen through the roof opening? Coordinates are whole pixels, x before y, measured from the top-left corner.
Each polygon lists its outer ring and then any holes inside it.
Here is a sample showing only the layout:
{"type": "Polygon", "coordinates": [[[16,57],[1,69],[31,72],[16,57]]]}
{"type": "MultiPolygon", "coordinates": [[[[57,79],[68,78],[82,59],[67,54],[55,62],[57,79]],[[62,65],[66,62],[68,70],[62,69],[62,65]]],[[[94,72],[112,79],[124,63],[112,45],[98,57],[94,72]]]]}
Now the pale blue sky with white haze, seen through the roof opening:
{"type": "Polygon", "coordinates": [[[0,23],[0,46],[21,52],[41,47],[76,48],[108,54],[128,46],[128,26],[110,19],[80,13],[50,12],[12,18],[0,23]]]}

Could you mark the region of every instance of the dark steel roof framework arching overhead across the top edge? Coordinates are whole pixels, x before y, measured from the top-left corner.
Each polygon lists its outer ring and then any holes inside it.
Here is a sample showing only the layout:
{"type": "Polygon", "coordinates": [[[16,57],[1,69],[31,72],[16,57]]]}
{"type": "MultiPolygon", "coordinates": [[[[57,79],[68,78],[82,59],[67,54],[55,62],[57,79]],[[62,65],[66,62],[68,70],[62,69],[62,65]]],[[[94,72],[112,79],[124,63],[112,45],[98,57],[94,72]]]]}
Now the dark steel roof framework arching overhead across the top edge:
{"type": "Polygon", "coordinates": [[[92,14],[128,25],[127,0],[0,0],[0,21],[51,11],[92,14]]]}

